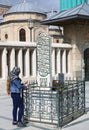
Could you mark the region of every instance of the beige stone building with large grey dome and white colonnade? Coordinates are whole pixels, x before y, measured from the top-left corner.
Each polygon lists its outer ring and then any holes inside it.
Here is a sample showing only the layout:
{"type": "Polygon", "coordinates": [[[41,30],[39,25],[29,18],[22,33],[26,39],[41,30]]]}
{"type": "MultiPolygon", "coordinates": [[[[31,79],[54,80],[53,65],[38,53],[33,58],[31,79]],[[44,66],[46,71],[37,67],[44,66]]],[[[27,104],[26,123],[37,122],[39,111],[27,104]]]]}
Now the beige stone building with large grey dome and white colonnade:
{"type": "Polygon", "coordinates": [[[0,80],[3,83],[14,66],[21,68],[23,80],[37,78],[36,38],[41,32],[51,37],[53,79],[58,73],[71,77],[71,45],[63,43],[63,32],[59,27],[40,23],[45,18],[43,9],[25,1],[1,15],[0,80]]]}

